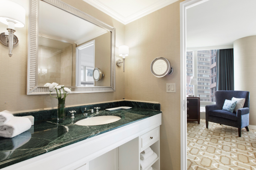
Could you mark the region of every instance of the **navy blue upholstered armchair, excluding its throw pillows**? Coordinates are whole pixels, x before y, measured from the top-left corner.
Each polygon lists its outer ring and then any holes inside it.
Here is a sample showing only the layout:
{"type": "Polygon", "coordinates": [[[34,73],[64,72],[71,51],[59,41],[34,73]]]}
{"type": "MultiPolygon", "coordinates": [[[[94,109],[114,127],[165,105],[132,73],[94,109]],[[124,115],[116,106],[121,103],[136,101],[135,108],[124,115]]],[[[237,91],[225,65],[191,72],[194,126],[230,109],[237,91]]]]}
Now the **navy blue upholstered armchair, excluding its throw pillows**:
{"type": "Polygon", "coordinates": [[[239,137],[241,137],[241,128],[245,127],[249,131],[247,126],[249,125],[250,92],[215,91],[214,95],[216,104],[205,106],[206,128],[209,122],[237,127],[239,137]],[[233,97],[245,99],[244,108],[238,109],[236,113],[222,110],[225,99],[231,100],[233,97]]]}

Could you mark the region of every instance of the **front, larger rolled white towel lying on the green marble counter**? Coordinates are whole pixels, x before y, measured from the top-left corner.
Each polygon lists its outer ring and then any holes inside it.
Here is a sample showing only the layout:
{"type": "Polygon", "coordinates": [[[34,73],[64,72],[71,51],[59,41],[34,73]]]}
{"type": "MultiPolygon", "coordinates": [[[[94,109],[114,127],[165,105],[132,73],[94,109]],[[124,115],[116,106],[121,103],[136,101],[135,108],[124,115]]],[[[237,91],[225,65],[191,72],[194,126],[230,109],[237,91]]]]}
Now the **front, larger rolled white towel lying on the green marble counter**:
{"type": "Polygon", "coordinates": [[[31,121],[29,118],[14,116],[9,122],[0,125],[0,136],[12,138],[29,130],[30,127],[31,121]]]}

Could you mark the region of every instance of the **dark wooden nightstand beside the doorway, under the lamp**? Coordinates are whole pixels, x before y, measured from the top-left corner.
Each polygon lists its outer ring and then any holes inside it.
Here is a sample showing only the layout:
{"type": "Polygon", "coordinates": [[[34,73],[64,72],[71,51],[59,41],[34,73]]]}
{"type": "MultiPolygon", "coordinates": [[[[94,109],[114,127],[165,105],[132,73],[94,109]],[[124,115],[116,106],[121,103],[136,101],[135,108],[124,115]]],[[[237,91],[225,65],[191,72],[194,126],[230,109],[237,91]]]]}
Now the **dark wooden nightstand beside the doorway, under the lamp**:
{"type": "Polygon", "coordinates": [[[187,121],[197,121],[200,124],[200,97],[187,96],[187,121]]]}

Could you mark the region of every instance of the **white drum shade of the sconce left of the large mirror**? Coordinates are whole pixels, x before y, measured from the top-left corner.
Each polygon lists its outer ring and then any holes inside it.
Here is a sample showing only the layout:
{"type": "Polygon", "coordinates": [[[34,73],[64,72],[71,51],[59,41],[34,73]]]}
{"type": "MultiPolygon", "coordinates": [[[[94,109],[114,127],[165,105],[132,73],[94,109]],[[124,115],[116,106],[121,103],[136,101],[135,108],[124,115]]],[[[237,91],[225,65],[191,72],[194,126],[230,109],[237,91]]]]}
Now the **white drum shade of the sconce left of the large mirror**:
{"type": "Polygon", "coordinates": [[[15,23],[15,27],[25,26],[26,11],[23,6],[11,0],[0,0],[0,22],[8,25],[8,21],[15,23]]]}

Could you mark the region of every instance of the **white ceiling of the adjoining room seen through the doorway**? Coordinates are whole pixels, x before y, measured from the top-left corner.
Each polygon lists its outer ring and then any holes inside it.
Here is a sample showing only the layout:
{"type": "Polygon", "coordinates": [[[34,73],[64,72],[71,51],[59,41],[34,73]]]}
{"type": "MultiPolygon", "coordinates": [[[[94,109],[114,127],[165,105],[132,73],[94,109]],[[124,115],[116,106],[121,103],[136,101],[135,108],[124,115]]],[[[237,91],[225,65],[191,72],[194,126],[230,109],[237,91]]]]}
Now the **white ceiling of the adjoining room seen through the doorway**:
{"type": "Polygon", "coordinates": [[[233,45],[256,35],[256,0],[209,0],[187,9],[187,47],[233,45]]]}

